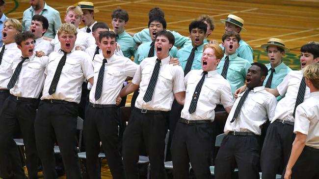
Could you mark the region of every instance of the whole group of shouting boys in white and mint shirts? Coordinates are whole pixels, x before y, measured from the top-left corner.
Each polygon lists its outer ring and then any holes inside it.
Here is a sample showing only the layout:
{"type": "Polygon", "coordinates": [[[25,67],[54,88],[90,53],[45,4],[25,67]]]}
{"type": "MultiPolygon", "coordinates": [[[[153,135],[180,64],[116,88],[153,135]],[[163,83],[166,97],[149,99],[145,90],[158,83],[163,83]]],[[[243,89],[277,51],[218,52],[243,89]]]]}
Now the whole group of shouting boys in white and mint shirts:
{"type": "Polygon", "coordinates": [[[270,63],[253,63],[252,48],[239,35],[244,21],[235,15],[221,20],[225,34],[218,45],[207,39],[214,28],[209,16],[189,24],[188,38],[166,30],[160,8],[151,9],[149,28],[136,34],[125,31],[129,15],[124,9],[112,12],[113,31],[94,20],[97,12],[92,2],[69,6],[51,42],[43,39],[49,22],[42,15],[32,17],[29,31],[22,31],[18,20],[4,21],[1,178],[26,178],[13,140],[20,129],[29,179],[38,178],[38,158],[45,179],[56,178],[56,141],[66,177],[80,179],[74,136],[82,113],[89,178],[101,178],[101,141],[114,179],[139,178],[141,147],[150,160],[151,178],[167,178],[164,140],[169,129],[174,179],[189,178],[189,163],[196,178],[210,179],[215,111],[229,113],[214,161],[215,179],[231,179],[235,168],[239,179],[259,179],[260,167],[263,179],[277,173],[285,179],[318,178],[318,43],[301,47],[302,70],[296,71],[283,63],[289,48],[276,38],[261,45],[270,63]],[[81,20],[85,27],[79,29],[81,20]],[[124,87],[128,78],[132,82],[124,87]],[[132,92],[121,152],[118,105],[132,92]]]}

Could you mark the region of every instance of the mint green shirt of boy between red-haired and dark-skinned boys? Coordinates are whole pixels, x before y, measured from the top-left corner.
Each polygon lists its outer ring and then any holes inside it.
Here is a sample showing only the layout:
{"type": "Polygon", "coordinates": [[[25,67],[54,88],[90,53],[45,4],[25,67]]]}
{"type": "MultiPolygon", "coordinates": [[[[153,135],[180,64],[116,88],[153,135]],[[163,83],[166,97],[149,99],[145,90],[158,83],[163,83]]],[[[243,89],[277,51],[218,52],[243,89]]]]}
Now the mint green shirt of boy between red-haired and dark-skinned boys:
{"type": "MultiPolygon", "coordinates": [[[[239,87],[243,86],[245,83],[245,79],[247,76],[247,71],[249,67],[251,67],[250,63],[237,56],[236,53],[229,55],[229,66],[227,70],[226,79],[229,81],[230,88],[232,89],[232,93],[234,95],[235,90],[239,89],[239,87]]],[[[220,60],[220,63],[217,66],[217,72],[219,74],[222,73],[223,67],[225,64],[226,55],[220,60]]]]}

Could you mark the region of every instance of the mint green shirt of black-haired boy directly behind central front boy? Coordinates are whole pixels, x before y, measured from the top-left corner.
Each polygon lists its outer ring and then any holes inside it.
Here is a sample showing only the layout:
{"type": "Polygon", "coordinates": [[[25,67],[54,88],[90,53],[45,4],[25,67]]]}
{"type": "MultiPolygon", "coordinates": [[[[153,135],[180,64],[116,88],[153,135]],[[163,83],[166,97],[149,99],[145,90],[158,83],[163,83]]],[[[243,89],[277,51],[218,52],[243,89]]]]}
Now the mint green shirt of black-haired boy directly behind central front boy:
{"type": "MultiPolygon", "coordinates": [[[[144,58],[148,57],[148,52],[150,51],[151,44],[152,44],[152,41],[143,43],[143,44],[138,46],[138,48],[135,52],[135,56],[134,56],[134,62],[136,64],[140,64],[144,58]]],[[[169,56],[176,57],[176,54],[177,54],[177,48],[176,48],[176,46],[173,46],[171,48],[171,50],[169,51],[169,56]]],[[[156,51],[155,51],[155,47],[154,47],[154,56],[155,55],[156,55],[156,51]]]]}

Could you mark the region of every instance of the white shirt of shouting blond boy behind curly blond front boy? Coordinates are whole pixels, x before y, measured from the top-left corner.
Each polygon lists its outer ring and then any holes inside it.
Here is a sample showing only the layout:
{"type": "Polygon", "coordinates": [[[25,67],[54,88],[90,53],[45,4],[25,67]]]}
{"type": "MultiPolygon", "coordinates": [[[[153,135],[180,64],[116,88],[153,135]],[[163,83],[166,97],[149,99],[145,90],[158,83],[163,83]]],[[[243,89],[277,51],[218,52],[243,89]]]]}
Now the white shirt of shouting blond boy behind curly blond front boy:
{"type": "MultiPolygon", "coordinates": [[[[61,43],[57,37],[57,34],[55,35],[54,39],[51,41],[51,45],[54,46],[53,51],[59,51],[61,49],[61,43]]],[[[80,46],[83,50],[85,51],[86,48],[90,46],[94,46],[95,44],[95,39],[92,35],[86,32],[79,31],[78,29],[78,34],[77,34],[77,39],[75,41],[74,49],[77,46],[80,46]]]]}

